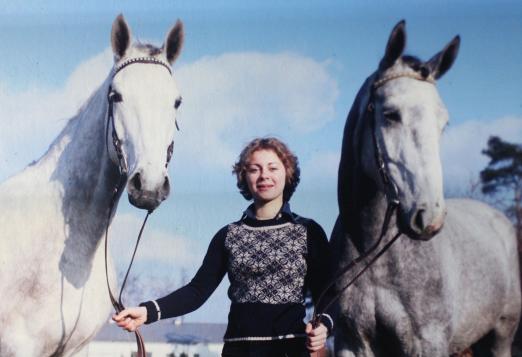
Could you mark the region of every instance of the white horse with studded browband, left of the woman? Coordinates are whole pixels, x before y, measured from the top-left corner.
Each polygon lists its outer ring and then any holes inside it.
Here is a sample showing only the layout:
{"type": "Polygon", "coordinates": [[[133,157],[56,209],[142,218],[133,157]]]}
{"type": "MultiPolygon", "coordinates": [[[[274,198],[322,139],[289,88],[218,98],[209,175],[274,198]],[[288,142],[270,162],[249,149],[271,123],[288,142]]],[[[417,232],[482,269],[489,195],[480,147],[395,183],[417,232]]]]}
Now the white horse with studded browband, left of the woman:
{"type": "Polygon", "coordinates": [[[100,242],[115,187],[126,184],[130,202],[147,210],[169,194],[181,103],[170,65],[183,25],[176,23],[162,48],[131,45],[120,15],[111,40],[108,78],[46,154],[0,186],[2,357],[79,351],[111,311],[100,242]]]}

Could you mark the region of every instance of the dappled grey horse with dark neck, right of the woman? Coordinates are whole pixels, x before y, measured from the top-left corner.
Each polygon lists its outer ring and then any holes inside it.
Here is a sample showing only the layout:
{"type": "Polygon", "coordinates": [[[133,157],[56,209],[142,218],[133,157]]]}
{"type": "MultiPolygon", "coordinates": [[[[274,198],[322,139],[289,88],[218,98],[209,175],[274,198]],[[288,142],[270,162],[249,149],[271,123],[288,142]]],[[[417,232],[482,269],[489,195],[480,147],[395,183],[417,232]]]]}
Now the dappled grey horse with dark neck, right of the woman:
{"type": "Polygon", "coordinates": [[[443,197],[448,114],[435,81],[460,38],[427,62],[403,56],[405,43],[401,21],[344,129],[331,239],[337,268],[376,242],[390,197],[400,203],[384,241],[403,234],[342,294],[336,356],[446,357],[472,345],[475,356],[510,356],[521,308],[514,229],[483,203],[443,197]]]}

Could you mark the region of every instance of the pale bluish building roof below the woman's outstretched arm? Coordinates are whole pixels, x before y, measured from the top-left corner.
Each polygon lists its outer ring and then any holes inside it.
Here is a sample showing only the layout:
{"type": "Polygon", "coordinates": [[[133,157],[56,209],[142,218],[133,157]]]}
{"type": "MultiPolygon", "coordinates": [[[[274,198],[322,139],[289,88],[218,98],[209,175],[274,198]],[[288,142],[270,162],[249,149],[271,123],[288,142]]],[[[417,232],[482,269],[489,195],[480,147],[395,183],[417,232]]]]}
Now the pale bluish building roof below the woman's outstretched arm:
{"type": "MultiPolygon", "coordinates": [[[[161,320],[140,327],[140,332],[147,342],[196,344],[222,343],[227,325],[219,323],[176,323],[175,320],[161,320]]],[[[115,324],[105,324],[94,338],[94,341],[127,342],[133,341],[130,334],[115,324]]]]}

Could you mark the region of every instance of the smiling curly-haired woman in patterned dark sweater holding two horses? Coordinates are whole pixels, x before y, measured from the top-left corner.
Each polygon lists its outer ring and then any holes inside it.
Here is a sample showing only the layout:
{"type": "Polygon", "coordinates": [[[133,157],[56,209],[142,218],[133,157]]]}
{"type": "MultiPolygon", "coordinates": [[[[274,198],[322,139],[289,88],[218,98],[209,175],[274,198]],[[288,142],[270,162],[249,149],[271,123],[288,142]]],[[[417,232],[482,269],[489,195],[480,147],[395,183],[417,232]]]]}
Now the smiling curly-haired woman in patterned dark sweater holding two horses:
{"type": "Polygon", "coordinates": [[[247,200],[241,219],[219,230],[192,281],[173,293],[113,319],[134,331],[142,324],[199,308],[228,273],[232,301],[222,356],[307,356],[324,347],[333,328],[304,324],[304,296],[316,299],[328,281],[328,242],[313,220],[294,214],[288,201],[299,183],[297,158],[275,138],[255,139],[233,172],[247,200]],[[306,342],[305,342],[306,339],[306,342]]]}

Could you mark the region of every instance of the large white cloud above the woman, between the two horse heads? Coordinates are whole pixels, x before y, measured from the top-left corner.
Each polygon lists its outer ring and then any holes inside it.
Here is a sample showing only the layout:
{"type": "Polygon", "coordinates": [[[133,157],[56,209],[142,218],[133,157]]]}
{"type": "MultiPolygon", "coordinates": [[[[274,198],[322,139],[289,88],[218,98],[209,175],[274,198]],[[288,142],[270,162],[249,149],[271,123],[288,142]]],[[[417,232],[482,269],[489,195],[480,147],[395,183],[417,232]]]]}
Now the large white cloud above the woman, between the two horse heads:
{"type": "Polygon", "coordinates": [[[183,94],[179,156],[230,167],[256,136],[302,135],[334,119],[327,64],[291,53],[205,57],[175,72],[183,94]]]}

